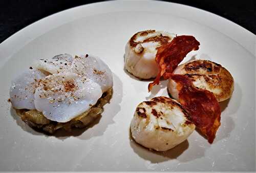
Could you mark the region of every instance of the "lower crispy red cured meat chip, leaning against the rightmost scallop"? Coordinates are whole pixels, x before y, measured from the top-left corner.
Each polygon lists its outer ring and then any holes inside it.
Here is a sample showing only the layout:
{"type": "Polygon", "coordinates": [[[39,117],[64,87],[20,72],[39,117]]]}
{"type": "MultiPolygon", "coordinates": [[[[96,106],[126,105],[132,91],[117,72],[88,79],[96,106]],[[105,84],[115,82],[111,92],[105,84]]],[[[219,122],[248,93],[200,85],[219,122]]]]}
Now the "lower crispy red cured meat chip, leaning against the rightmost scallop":
{"type": "MultiPolygon", "coordinates": [[[[184,75],[172,74],[170,80],[176,83],[178,101],[190,113],[191,121],[207,137],[208,142],[212,143],[221,125],[218,100],[211,92],[194,87],[191,80],[184,75]]],[[[170,93],[169,88],[168,90],[170,93]]]]}

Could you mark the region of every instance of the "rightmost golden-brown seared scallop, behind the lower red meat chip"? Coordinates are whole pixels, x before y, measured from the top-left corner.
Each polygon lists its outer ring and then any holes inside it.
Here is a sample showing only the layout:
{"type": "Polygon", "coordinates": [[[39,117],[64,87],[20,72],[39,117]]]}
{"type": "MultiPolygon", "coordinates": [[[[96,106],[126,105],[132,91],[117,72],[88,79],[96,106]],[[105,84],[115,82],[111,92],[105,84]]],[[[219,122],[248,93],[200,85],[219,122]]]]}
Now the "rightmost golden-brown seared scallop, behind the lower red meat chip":
{"type": "MultiPolygon", "coordinates": [[[[219,102],[229,99],[234,90],[234,79],[220,64],[209,60],[194,60],[178,66],[174,74],[182,74],[190,78],[200,89],[214,93],[219,102]]],[[[173,90],[172,82],[168,82],[168,90],[173,90]]],[[[173,93],[173,92],[170,92],[173,93]]],[[[175,95],[173,96],[174,98],[175,95]]]]}

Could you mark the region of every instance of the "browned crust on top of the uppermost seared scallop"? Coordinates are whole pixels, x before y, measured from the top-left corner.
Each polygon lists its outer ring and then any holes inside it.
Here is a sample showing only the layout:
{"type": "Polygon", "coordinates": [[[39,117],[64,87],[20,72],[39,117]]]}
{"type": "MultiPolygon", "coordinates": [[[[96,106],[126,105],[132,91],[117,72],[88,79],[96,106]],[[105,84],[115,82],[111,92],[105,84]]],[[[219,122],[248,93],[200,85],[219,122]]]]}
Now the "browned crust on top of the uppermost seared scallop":
{"type": "Polygon", "coordinates": [[[148,34],[152,34],[152,33],[155,33],[155,32],[156,32],[155,30],[147,30],[147,31],[137,32],[130,39],[131,47],[135,48],[138,44],[141,44],[143,42],[159,42],[159,45],[163,46],[163,45],[166,45],[170,40],[172,40],[171,37],[163,36],[162,34],[158,34],[158,35],[146,38],[146,36],[148,34]],[[140,37],[140,36],[143,36],[146,39],[141,40],[141,41],[136,41],[137,38],[140,37]]]}

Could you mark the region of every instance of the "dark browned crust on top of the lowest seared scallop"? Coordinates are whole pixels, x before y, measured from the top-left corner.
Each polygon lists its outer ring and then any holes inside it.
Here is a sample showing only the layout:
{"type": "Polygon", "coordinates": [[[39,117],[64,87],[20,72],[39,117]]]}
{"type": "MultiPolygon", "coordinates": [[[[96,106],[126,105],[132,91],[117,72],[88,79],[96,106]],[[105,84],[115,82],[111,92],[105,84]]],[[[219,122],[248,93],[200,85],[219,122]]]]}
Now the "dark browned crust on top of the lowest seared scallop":
{"type": "MultiPolygon", "coordinates": [[[[167,115],[165,115],[164,110],[173,110],[174,107],[177,107],[186,117],[186,120],[184,120],[184,124],[193,124],[189,120],[188,112],[175,100],[168,98],[168,97],[155,97],[152,98],[150,101],[143,101],[141,102],[135,111],[135,115],[138,115],[142,119],[146,119],[145,126],[150,123],[150,116],[154,116],[156,119],[165,120],[167,124],[172,124],[170,120],[167,118],[167,115]]],[[[156,129],[161,128],[162,130],[168,130],[173,131],[170,128],[166,127],[160,127],[159,125],[156,126],[156,129]]]]}

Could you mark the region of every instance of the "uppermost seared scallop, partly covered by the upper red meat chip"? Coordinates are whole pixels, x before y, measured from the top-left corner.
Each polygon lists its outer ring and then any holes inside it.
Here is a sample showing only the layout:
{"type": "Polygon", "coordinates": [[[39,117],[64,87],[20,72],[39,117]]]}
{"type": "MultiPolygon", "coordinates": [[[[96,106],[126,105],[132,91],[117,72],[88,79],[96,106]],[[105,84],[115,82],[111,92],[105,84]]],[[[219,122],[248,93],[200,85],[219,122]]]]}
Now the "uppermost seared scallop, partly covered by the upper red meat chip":
{"type": "Polygon", "coordinates": [[[134,34],[125,47],[125,69],[140,79],[155,78],[159,72],[155,61],[157,50],[175,36],[176,34],[155,30],[134,34]]]}

